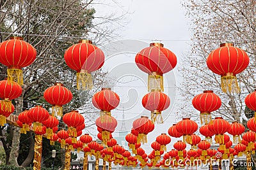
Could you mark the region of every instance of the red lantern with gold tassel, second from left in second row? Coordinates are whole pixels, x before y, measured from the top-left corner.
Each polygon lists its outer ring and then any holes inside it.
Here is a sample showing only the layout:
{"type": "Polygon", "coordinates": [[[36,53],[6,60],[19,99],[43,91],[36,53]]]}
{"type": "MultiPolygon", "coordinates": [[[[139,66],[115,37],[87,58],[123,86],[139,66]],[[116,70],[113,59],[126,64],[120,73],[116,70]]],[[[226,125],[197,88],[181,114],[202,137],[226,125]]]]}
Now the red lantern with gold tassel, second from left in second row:
{"type": "Polygon", "coordinates": [[[52,104],[52,116],[62,117],[62,105],[72,100],[72,93],[61,83],[55,83],[44,92],[45,101],[52,104]]]}

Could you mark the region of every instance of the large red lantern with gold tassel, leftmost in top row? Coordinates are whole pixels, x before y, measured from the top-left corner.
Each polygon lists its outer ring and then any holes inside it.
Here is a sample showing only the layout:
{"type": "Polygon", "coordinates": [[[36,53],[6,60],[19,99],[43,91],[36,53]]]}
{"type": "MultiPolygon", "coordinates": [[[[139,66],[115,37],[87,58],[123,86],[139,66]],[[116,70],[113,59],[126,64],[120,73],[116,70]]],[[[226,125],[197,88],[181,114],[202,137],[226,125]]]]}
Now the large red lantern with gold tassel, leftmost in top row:
{"type": "Polygon", "coordinates": [[[35,48],[22,37],[11,37],[0,44],[0,62],[8,67],[8,80],[23,85],[22,67],[29,66],[36,59],[35,48]]]}

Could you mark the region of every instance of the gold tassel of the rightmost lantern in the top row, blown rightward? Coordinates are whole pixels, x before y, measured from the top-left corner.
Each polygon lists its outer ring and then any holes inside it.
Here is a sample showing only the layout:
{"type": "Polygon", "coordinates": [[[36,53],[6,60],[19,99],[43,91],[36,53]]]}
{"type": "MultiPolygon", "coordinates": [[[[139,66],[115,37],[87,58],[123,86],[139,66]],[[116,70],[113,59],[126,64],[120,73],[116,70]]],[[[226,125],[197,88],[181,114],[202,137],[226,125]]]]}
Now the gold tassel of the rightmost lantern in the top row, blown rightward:
{"type": "Polygon", "coordinates": [[[227,74],[226,76],[221,76],[221,90],[225,93],[236,93],[239,94],[240,88],[237,83],[236,76],[227,74]]]}

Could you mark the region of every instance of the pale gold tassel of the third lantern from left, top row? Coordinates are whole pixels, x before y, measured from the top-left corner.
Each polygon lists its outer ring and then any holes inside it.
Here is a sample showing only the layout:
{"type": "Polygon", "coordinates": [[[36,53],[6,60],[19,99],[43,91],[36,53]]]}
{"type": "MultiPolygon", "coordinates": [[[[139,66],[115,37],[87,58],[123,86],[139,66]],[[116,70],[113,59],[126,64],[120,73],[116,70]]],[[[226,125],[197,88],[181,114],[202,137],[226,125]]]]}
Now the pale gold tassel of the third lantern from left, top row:
{"type": "Polygon", "coordinates": [[[152,90],[161,90],[163,92],[163,84],[163,76],[157,73],[148,74],[148,92],[152,90]]]}

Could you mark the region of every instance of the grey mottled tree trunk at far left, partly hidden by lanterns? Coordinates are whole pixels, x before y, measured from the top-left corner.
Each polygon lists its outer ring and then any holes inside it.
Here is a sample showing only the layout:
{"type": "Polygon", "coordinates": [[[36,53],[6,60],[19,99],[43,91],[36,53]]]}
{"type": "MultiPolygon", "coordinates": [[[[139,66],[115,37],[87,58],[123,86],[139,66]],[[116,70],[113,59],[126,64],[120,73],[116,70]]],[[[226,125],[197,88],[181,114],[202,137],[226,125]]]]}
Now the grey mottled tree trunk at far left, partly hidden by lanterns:
{"type": "MultiPolygon", "coordinates": [[[[23,94],[17,99],[16,105],[16,115],[22,112],[23,108],[23,94]]],[[[13,126],[13,138],[12,138],[12,148],[10,151],[9,164],[12,166],[19,166],[17,158],[19,156],[19,145],[20,145],[20,128],[13,126]]]]}

